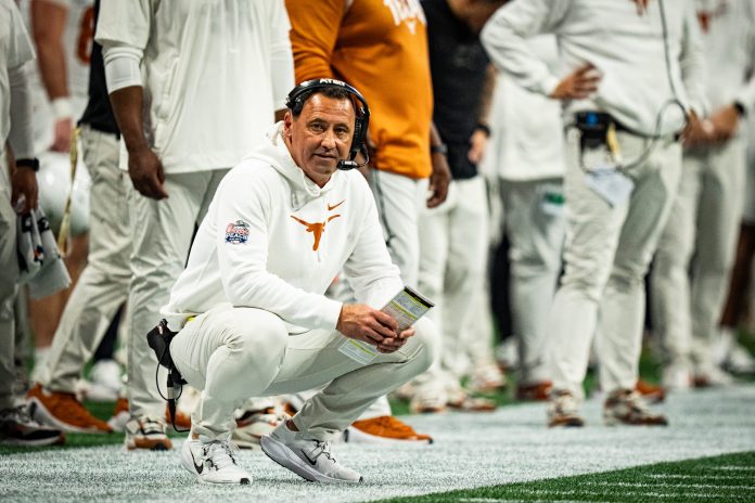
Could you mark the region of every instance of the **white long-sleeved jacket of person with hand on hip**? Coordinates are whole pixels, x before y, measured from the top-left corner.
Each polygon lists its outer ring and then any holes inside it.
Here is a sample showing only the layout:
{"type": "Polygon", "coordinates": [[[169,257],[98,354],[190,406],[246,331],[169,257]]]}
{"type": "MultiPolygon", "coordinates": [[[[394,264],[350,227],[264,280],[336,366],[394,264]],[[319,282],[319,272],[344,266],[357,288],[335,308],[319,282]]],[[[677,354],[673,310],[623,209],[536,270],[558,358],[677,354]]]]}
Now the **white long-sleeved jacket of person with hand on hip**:
{"type": "MultiPolygon", "coordinates": [[[[585,109],[607,112],[641,134],[656,132],[656,116],[673,96],[666,72],[661,23],[663,2],[668,26],[670,74],[679,100],[699,116],[707,111],[700,27],[690,0],[654,0],[641,16],[629,0],[523,0],[500,8],[485,25],[483,44],[490,59],[516,81],[549,95],[561,79],[586,63],[603,75],[588,100],[565,103],[565,115],[585,109]],[[526,39],[553,33],[561,75],[535,57],[526,39]]],[[[683,127],[678,106],[666,109],[660,134],[683,127]]]]}

